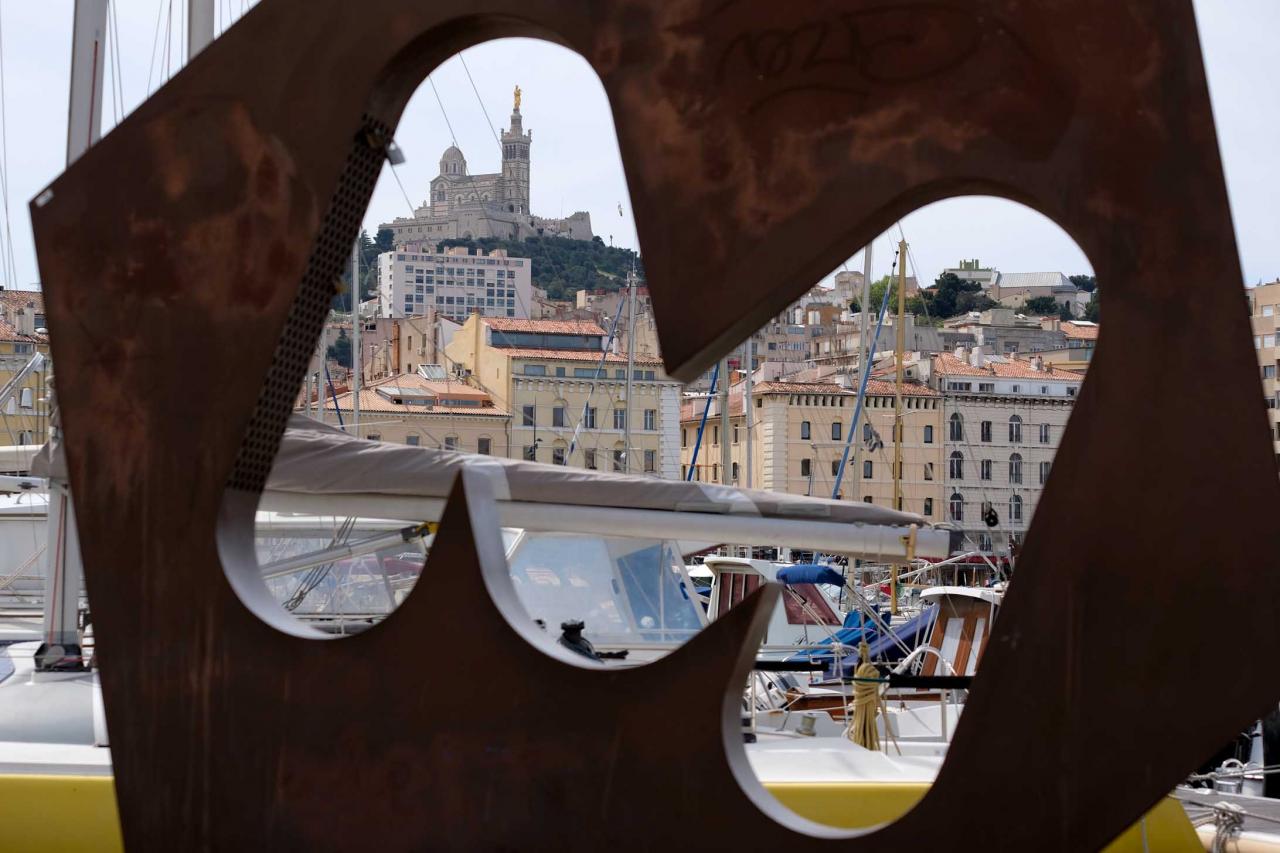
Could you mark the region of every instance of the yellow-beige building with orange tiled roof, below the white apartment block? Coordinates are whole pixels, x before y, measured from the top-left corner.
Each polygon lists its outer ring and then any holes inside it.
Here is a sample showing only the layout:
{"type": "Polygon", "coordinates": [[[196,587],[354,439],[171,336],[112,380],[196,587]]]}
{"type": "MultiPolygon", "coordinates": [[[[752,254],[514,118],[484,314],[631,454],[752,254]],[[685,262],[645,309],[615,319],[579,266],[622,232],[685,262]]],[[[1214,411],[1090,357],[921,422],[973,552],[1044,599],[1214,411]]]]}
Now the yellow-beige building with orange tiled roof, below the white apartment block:
{"type": "Polygon", "coordinates": [[[654,356],[605,352],[595,323],[472,314],[444,347],[451,365],[512,412],[511,456],[631,474],[678,475],[680,384],[654,356]],[[626,423],[631,420],[631,448],[626,423]]]}

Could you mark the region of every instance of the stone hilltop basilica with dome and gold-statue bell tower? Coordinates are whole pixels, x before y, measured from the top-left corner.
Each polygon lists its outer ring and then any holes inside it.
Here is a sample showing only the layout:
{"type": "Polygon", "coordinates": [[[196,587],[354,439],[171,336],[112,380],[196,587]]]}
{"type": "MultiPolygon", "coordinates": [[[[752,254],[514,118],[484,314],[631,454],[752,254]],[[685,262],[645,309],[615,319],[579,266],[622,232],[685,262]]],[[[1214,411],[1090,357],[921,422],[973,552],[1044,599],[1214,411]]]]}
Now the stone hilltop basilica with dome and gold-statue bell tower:
{"type": "Polygon", "coordinates": [[[466,156],[451,145],[440,155],[440,173],[431,179],[428,201],[412,216],[397,218],[379,228],[389,228],[397,243],[481,237],[524,240],[536,236],[590,240],[591,215],[586,211],[559,219],[535,216],[530,211],[534,134],[524,128],[520,99],[520,87],[516,87],[511,124],[502,132],[499,172],[471,174],[466,156]]]}

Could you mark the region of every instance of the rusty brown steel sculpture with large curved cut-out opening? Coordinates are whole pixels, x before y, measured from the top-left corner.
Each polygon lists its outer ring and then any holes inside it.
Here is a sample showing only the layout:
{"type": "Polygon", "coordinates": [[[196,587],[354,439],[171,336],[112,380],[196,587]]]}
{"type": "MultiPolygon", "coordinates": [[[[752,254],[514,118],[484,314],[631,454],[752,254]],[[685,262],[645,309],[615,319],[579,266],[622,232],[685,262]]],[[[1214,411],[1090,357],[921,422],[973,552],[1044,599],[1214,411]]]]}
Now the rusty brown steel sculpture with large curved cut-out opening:
{"type": "Polygon", "coordinates": [[[1188,1],[269,0],[32,206],[131,847],[824,843],[741,775],[759,597],[650,667],[543,657],[481,592],[509,611],[483,482],[366,634],[288,634],[233,590],[261,598],[255,494],[379,134],[517,35],[609,93],[675,375],[948,195],[1043,211],[1106,291],[947,763],[841,843],[1094,848],[1275,707],[1280,484],[1188,1]],[[1188,642],[1225,629],[1210,601],[1252,654],[1188,642]]]}

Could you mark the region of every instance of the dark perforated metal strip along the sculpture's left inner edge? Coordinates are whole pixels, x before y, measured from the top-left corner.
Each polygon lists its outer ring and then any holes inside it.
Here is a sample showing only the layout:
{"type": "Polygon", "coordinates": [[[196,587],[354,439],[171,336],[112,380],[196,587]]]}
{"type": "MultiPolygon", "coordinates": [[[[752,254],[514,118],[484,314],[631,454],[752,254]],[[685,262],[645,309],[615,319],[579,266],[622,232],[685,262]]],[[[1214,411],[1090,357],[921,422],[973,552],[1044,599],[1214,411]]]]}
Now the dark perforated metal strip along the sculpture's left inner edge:
{"type": "Polygon", "coordinates": [[[385,149],[376,140],[389,140],[390,128],[378,119],[362,117],[360,132],[351,143],[342,181],[325,215],[302,287],[289,310],[284,334],[275,347],[271,368],[257,398],[227,485],[246,492],[261,492],[284,434],[284,425],[298,398],[298,388],[315,352],[334,295],[334,279],[351,257],[351,246],[360,233],[360,220],[369,206],[385,149]]]}

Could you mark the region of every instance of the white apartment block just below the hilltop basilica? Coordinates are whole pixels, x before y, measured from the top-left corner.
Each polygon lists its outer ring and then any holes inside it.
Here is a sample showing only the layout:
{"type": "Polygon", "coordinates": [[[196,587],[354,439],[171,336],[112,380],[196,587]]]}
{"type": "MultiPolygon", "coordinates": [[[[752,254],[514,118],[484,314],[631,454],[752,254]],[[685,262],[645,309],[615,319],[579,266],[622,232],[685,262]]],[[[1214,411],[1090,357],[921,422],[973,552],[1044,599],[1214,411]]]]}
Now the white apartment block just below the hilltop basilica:
{"type": "Polygon", "coordinates": [[[389,318],[421,316],[434,307],[462,323],[483,316],[527,319],[534,305],[532,263],[503,250],[468,255],[465,247],[435,251],[430,243],[404,243],[378,257],[378,301],[389,318]]]}

